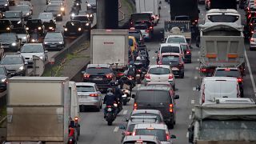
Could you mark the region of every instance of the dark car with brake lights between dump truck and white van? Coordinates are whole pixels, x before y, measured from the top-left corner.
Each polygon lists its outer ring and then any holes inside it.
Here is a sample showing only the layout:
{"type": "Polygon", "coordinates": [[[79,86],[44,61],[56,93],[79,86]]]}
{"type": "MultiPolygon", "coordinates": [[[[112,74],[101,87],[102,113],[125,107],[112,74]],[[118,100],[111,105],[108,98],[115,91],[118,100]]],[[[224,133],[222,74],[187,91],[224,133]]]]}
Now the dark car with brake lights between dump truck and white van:
{"type": "Polygon", "coordinates": [[[213,77],[234,77],[238,79],[241,97],[243,97],[243,78],[240,70],[236,67],[217,67],[214,71],[213,77]]]}

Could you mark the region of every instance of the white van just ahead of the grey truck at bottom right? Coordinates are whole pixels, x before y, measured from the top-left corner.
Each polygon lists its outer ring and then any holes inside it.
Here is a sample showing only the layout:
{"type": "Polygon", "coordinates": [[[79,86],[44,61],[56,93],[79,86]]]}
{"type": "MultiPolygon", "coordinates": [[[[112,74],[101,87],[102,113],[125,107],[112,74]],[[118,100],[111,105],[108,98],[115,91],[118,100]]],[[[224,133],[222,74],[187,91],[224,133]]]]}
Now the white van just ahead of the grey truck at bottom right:
{"type": "Polygon", "coordinates": [[[215,98],[240,98],[237,78],[206,77],[202,79],[199,103],[214,102],[215,98]]]}

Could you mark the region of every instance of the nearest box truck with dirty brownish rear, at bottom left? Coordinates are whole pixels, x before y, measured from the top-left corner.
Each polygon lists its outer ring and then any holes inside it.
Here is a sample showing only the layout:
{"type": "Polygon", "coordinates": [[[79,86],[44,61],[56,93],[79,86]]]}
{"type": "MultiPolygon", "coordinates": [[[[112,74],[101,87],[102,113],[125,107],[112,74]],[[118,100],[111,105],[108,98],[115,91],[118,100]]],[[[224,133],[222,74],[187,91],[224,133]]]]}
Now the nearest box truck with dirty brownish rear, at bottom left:
{"type": "Polygon", "coordinates": [[[78,101],[74,88],[68,77],[8,79],[5,143],[66,143],[70,118],[76,122],[78,136],[78,101]]]}

